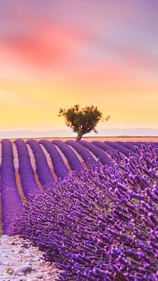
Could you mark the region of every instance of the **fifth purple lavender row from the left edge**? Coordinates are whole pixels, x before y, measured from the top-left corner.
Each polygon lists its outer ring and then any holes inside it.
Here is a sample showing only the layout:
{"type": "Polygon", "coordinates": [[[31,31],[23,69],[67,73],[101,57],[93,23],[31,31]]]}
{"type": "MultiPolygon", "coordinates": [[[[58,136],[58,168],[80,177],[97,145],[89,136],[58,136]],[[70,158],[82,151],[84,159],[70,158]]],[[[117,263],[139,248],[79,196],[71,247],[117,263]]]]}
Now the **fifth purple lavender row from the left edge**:
{"type": "Polygon", "coordinates": [[[54,145],[57,145],[58,148],[62,151],[62,153],[65,155],[65,157],[68,160],[68,163],[70,164],[70,167],[72,171],[80,172],[81,169],[83,169],[83,166],[81,165],[81,162],[79,162],[79,159],[77,155],[74,153],[74,151],[70,148],[67,143],[64,143],[63,141],[54,140],[52,141],[54,145]]]}

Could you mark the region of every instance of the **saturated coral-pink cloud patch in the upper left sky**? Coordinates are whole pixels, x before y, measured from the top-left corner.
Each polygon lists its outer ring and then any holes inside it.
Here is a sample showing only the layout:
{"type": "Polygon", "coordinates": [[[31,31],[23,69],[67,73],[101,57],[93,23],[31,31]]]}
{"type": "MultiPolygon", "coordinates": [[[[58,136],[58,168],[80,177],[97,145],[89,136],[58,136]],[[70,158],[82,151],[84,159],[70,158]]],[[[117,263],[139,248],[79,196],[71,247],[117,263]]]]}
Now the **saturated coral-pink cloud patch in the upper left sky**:
{"type": "Polygon", "coordinates": [[[34,34],[20,34],[5,37],[2,44],[20,60],[39,65],[51,66],[65,63],[72,56],[74,39],[66,30],[55,27],[43,28],[34,34]]]}

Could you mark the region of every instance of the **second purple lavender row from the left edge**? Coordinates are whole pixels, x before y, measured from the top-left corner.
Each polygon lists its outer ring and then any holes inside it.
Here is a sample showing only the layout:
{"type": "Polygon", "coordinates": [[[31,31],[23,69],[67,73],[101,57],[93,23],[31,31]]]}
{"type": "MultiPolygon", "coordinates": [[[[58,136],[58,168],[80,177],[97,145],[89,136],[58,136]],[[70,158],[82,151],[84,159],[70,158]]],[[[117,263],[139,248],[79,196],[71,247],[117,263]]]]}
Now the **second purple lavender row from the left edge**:
{"type": "Polygon", "coordinates": [[[25,141],[21,139],[15,140],[15,145],[18,150],[19,159],[19,174],[20,181],[22,185],[22,190],[25,197],[28,199],[30,194],[37,194],[40,192],[39,185],[34,178],[34,170],[32,169],[32,164],[30,162],[29,152],[27,150],[27,145],[25,141]]]}

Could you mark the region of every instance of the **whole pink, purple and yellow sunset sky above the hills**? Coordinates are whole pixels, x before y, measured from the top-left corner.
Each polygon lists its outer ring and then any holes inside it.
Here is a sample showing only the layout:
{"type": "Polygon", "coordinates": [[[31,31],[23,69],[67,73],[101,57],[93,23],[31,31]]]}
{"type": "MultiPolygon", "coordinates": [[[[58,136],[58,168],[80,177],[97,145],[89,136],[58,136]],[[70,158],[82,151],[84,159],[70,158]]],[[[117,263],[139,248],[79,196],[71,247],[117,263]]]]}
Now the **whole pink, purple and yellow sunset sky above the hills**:
{"type": "Polygon", "coordinates": [[[1,0],[0,130],[66,128],[97,105],[102,128],[158,129],[157,0],[1,0]]]}

